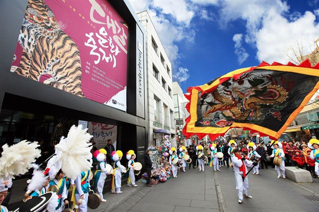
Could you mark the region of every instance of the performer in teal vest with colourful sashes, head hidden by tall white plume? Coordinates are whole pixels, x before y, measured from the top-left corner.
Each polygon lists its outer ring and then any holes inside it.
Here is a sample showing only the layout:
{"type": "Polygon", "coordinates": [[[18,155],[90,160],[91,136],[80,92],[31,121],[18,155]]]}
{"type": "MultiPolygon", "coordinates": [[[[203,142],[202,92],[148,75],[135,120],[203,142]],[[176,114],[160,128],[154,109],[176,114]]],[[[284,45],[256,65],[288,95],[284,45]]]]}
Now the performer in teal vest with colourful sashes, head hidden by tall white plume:
{"type": "Polygon", "coordinates": [[[78,212],[88,211],[88,200],[89,200],[89,190],[90,190],[90,170],[86,172],[81,172],[74,181],[75,186],[72,193],[72,202],[76,201],[76,205],[79,207],[78,212]]]}

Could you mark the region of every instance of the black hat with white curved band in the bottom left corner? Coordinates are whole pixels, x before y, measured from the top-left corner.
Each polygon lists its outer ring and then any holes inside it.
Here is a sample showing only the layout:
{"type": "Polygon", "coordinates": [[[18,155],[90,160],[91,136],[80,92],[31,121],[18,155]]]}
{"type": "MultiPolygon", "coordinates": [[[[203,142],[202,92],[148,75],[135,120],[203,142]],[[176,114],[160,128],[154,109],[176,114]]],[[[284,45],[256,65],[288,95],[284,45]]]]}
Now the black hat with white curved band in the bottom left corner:
{"type": "Polygon", "coordinates": [[[14,212],[42,212],[45,211],[45,206],[49,203],[52,198],[53,192],[47,192],[41,196],[33,196],[30,200],[19,204],[19,208],[14,212]]]}

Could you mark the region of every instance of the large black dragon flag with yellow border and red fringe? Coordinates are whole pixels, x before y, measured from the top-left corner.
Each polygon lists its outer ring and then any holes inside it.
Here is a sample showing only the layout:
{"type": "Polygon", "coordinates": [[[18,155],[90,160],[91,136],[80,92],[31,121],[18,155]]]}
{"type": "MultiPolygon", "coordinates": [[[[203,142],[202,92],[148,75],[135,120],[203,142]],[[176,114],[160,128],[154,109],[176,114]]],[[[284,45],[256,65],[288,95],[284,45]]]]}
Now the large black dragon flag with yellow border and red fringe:
{"type": "Polygon", "coordinates": [[[299,66],[262,62],[190,87],[183,134],[214,140],[243,128],[277,140],[319,89],[318,69],[308,60],[299,66]]]}

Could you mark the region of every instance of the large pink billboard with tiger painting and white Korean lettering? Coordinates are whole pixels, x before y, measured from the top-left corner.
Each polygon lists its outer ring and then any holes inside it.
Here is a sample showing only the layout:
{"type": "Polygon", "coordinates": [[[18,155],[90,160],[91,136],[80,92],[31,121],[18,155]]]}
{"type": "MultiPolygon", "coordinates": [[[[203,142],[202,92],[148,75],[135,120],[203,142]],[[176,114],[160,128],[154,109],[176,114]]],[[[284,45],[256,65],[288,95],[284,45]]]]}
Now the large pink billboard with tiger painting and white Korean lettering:
{"type": "Polygon", "coordinates": [[[127,52],[108,0],[28,0],[10,71],[126,111],[127,52]]]}

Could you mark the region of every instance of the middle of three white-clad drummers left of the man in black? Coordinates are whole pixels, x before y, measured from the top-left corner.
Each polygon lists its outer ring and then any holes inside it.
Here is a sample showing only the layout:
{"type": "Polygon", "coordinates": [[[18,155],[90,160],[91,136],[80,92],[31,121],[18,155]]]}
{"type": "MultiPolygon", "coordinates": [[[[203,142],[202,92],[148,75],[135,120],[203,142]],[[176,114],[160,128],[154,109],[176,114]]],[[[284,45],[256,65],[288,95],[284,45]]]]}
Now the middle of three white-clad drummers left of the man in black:
{"type": "Polygon", "coordinates": [[[113,151],[111,153],[112,160],[114,161],[113,164],[113,176],[112,176],[112,186],[111,192],[112,194],[117,193],[121,194],[121,180],[122,180],[122,171],[125,169],[124,166],[121,165],[120,160],[122,159],[123,152],[121,150],[117,150],[116,152],[113,151]]]}

